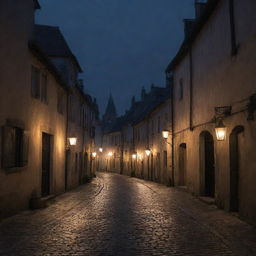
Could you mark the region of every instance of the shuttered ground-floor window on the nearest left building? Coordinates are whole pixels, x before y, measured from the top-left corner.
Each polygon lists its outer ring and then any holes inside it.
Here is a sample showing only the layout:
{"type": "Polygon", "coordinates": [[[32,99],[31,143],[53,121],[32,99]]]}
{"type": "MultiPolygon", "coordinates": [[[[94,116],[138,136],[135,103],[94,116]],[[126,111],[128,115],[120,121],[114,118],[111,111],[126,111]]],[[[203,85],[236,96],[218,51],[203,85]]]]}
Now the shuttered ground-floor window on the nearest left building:
{"type": "Polygon", "coordinates": [[[2,167],[23,167],[28,163],[28,135],[18,127],[3,127],[2,167]]]}

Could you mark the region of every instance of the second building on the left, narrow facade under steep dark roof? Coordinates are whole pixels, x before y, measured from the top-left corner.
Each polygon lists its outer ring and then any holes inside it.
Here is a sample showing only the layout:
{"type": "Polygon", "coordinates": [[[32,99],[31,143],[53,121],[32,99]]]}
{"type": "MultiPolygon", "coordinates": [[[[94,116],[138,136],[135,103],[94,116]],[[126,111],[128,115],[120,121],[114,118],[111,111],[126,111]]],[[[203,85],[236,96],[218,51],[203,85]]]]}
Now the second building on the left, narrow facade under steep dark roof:
{"type": "Polygon", "coordinates": [[[91,97],[83,92],[83,81],[78,79],[78,73],[82,72],[82,68],[59,28],[35,25],[34,37],[58,68],[69,88],[67,136],[77,139],[77,144],[69,147],[66,152],[66,188],[70,189],[82,184],[94,172],[91,153],[94,152],[97,106],[91,97]]]}

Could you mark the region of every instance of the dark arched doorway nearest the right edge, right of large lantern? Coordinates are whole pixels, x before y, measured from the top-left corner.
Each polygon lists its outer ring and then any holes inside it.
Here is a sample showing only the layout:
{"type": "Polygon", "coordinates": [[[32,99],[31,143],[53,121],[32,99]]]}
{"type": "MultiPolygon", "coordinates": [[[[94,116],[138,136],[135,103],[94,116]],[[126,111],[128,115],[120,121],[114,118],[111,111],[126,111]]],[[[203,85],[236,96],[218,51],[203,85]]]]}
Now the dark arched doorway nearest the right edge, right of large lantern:
{"type": "Polygon", "coordinates": [[[233,129],[229,137],[230,155],[230,211],[239,211],[239,172],[240,172],[240,150],[239,136],[244,131],[243,126],[233,129]]]}

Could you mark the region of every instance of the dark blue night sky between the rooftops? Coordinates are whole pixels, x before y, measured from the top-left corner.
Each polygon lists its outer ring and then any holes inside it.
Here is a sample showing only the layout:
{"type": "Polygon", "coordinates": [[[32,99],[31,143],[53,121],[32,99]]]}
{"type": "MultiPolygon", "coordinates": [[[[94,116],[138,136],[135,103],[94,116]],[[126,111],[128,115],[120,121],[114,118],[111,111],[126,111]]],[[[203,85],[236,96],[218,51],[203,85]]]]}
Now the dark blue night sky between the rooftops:
{"type": "Polygon", "coordinates": [[[118,114],[164,70],[183,40],[194,0],[40,0],[36,22],[59,26],[84,73],[85,91],[101,114],[110,92],[118,114]]]}

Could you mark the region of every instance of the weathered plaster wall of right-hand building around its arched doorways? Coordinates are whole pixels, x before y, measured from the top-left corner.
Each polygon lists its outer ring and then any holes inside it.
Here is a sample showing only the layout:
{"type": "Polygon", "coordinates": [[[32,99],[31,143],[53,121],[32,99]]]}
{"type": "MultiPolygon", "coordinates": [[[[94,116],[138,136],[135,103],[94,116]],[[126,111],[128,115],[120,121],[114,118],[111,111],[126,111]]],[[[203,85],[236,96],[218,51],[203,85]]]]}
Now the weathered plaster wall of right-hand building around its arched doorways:
{"type": "MultiPolygon", "coordinates": [[[[248,121],[249,97],[256,93],[256,2],[234,1],[236,55],[232,55],[229,1],[220,1],[191,47],[192,56],[192,127],[189,129],[190,66],[189,54],[174,69],[174,124],[175,124],[175,181],[180,173],[180,145],[186,144],[186,185],[197,195],[205,195],[205,163],[202,132],[208,131],[214,139],[215,193],[217,204],[232,210],[233,158],[231,133],[237,129],[236,155],[238,169],[239,213],[256,223],[256,123],[248,121]],[[179,100],[180,80],[183,80],[184,97],[179,100]],[[225,141],[215,136],[215,107],[232,106],[230,116],[224,118],[227,127],[225,141]],[[200,139],[201,135],[201,139],[200,139]]],[[[233,133],[234,134],[234,133],[233,133]]],[[[234,152],[233,152],[234,153],[234,152]]]]}

